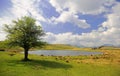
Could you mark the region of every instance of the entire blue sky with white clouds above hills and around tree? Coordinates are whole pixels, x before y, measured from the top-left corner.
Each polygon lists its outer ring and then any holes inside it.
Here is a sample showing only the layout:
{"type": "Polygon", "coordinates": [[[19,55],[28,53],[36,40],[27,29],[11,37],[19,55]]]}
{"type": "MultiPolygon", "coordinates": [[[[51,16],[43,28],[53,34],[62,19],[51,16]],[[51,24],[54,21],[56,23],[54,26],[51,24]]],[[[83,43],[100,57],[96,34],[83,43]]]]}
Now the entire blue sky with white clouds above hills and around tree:
{"type": "Polygon", "coordinates": [[[51,44],[120,46],[120,0],[0,0],[0,40],[4,24],[23,16],[35,18],[51,44]]]}

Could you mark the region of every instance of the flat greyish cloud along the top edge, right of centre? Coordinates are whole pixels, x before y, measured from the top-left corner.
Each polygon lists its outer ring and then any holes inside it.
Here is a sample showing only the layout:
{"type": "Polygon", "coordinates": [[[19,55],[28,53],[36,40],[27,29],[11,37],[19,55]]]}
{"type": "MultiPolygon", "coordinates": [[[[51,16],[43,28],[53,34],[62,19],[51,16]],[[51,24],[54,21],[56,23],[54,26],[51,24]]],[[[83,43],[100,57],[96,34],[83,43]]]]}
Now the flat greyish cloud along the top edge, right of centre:
{"type": "Polygon", "coordinates": [[[50,0],[56,11],[62,12],[66,9],[74,13],[100,14],[106,11],[105,6],[111,6],[115,0],[50,0]]]}

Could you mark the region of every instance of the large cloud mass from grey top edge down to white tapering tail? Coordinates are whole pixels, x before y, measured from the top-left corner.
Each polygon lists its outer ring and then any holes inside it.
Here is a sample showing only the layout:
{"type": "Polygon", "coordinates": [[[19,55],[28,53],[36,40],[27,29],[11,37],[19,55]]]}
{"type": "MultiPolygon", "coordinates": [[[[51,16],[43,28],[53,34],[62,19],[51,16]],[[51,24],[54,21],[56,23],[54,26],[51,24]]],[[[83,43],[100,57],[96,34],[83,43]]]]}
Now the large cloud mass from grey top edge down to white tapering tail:
{"type": "Polygon", "coordinates": [[[107,12],[106,6],[112,6],[114,0],[50,0],[60,14],[59,17],[52,17],[51,21],[55,24],[70,22],[80,28],[89,28],[90,24],[86,20],[79,18],[79,13],[98,15],[107,12]]]}

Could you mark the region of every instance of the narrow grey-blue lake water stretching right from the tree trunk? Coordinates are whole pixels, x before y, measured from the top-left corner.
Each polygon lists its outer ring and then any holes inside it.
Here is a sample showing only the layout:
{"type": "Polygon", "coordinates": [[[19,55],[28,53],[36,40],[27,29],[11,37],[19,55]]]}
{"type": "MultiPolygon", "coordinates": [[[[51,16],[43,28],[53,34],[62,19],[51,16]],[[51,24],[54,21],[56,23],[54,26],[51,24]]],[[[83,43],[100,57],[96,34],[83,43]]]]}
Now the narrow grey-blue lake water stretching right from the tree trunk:
{"type": "Polygon", "coordinates": [[[79,56],[79,55],[98,55],[102,52],[70,51],[70,50],[37,50],[29,51],[29,54],[45,56],[79,56]]]}

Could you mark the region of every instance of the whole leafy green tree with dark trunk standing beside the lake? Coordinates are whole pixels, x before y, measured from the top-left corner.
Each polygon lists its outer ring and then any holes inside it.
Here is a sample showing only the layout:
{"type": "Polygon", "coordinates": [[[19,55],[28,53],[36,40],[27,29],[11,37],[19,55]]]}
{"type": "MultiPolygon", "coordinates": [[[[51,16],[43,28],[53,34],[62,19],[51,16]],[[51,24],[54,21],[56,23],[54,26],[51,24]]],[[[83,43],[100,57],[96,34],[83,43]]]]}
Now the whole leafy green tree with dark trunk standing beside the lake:
{"type": "Polygon", "coordinates": [[[9,45],[24,48],[25,61],[29,60],[28,51],[30,48],[44,45],[42,36],[45,33],[35,22],[34,18],[25,16],[16,21],[14,20],[12,24],[5,24],[9,45]]]}

